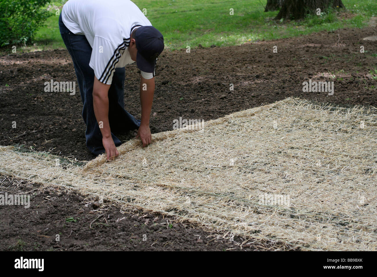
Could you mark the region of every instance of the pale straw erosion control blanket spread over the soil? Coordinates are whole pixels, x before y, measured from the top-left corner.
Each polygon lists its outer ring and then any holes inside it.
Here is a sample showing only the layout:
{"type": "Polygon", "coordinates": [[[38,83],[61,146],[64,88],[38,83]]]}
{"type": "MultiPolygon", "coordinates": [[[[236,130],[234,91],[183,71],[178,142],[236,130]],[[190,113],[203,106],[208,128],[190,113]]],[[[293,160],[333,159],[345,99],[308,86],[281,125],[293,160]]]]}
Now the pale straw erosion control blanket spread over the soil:
{"type": "MultiPolygon", "coordinates": [[[[280,249],[376,250],[377,110],[287,98],[84,166],[2,147],[0,172],[280,249]],[[64,164],[65,163],[65,164],[64,164]]],[[[31,202],[32,205],[32,202],[31,202]]]]}

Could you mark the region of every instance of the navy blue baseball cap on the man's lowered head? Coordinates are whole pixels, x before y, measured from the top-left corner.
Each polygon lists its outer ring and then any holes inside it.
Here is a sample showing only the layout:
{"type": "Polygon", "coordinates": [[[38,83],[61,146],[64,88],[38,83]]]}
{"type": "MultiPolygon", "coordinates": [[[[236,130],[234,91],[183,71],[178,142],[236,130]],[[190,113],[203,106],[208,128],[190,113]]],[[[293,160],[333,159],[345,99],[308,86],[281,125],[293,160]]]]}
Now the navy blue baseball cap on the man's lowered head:
{"type": "Polygon", "coordinates": [[[157,57],[164,50],[164,37],[153,26],[141,26],[135,31],[135,42],[136,65],[141,71],[154,73],[157,57]]]}

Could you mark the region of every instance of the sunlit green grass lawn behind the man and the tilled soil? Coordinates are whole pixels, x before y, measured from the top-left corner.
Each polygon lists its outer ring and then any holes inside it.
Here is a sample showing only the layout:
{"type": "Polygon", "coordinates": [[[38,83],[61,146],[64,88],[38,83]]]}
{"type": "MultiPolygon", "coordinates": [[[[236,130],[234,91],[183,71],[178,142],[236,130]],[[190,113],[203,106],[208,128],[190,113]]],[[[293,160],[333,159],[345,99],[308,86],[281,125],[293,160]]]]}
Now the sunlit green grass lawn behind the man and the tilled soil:
{"type": "MultiPolygon", "coordinates": [[[[23,51],[65,48],[58,29],[55,6],[51,17],[35,36],[35,45],[23,51]]],[[[247,41],[274,40],[296,37],[339,28],[362,28],[371,16],[377,16],[375,0],[343,0],[347,11],[341,14],[325,11],[302,21],[273,21],[275,12],[264,12],[266,0],[134,0],[140,9],[147,9],[147,17],[164,35],[170,49],[195,48],[198,44],[209,47],[239,45],[247,41]],[[230,8],[234,15],[230,15],[230,8]]],[[[20,52],[20,51],[17,51],[20,52]]]]}

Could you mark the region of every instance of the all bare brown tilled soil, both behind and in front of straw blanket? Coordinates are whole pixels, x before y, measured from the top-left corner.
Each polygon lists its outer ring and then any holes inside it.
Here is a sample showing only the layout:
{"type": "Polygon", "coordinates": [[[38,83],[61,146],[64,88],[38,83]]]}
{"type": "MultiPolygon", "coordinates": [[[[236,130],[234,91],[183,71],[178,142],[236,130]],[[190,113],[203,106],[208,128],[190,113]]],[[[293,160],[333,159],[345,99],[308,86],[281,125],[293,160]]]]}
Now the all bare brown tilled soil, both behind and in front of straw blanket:
{"type": "MultiPolygon", "coordinates": [[[[345,107],[375,107],[377,44],[362,38],[376,33],[371,27],[341,29],[241,46],[198,47],[190,53],[186,49],[166,50],[158,60],[151,131],[172,130],[173,120],[180,116],[216,119],[288,96],[345,107]],[[277,53],[273,53],[274,46],[277,53]],[[360,46],[364,53],[360,53],[360,46]],[[334,94],[303,92],[302,83],[309,79],[333,81],[334,94]],[[230,90],[231,84],[234,90],[230,90]]],[[[76,81],[66,50],[0,57],[0,145],[23,144],[26,148],[77,160],[94,158],[85,146],[78,86],[75,95],[44,92],[44,82],[51,79],[76,81]],[[13,128],[14,123],[17,128],[13,128]]],[[[135,64],[126,68],[125,107],[140,118],[139,74],[135,64]]],[[[133,136],[130,131],[118,138],[127,140],[133,136]]],[[[0,206],[0,249],[19,247],[19,240],[25,241],[25,249],[43,250],[241,249],[238,244],[242,238],[229,243],[217,239],[216,234],[182,225],[169,217],[141,211],[122,214],[108,204],[98,210],[80,195],[55,188],[44,191],[38,184],[18,183],[20,180],[11,183],[5,176],[1,179],[4,179],[1,192],[25,193],[35,186],[37,194],[32,197],[29,209],[0,206]],[[90,229],[90,222],[100,214],[105,215],[90,229]],[[66,222],[69,217],[79,219],[66,222]],[[121,218],[124,219],[119,221],[121,218]],[[63,239],[57,243],[55,235],[59,233],[63,239]],[[146,241],[143,234],[147,234],[146,241]]],[[[243,246],[247,247],[242,249],[259,249],[253,243],[243,246]]]]}

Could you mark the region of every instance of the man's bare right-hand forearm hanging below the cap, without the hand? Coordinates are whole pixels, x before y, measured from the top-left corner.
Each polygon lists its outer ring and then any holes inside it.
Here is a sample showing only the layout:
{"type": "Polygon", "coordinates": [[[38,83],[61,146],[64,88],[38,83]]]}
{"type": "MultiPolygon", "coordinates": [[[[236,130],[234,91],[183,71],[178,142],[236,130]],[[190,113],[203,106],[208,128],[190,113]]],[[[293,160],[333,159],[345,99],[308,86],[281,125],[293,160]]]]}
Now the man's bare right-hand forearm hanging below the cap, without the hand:
{"type": "Polygon", "coordinates": [[[140,79],[141,125],[149,126],[152,110],[153,95],[155,93],[155,78],[140,79]]]}

